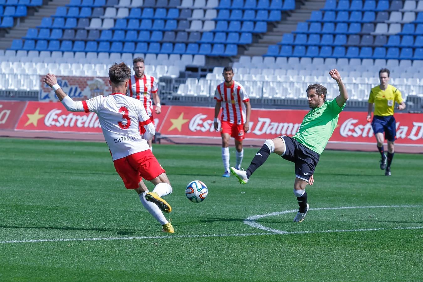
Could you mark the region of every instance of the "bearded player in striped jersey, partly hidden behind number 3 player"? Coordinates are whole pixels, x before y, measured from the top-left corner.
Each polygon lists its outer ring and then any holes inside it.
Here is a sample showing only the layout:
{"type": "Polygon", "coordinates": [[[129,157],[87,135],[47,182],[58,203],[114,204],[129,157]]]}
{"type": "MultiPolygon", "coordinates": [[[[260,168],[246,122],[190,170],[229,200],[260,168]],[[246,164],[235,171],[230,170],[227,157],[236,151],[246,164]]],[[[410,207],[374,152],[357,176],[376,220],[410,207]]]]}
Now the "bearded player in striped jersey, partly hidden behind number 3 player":
{"type": "MultiPolygon", "coordinates": [[[[154,109],[156,114],[162,112],[159,94],[157,93],[157,79],[144,73],[145,65],[143,58],[136,57],[133,60],[133,63],[135,75],[129,79],[129,96],[143,102],[144,108],[147,111],[147,115],[150,117],[151,122],[154,125],[153,102],[151,101],[151,98],[153,98],[154,104],[156,105],[156,108],[154,109]]],[[[141,128],[140,133],[144,133],[143,128],[141,128]]],[[[148,140],[150,149],[152,149],[151,143],[151,140],[148,140]]]]}

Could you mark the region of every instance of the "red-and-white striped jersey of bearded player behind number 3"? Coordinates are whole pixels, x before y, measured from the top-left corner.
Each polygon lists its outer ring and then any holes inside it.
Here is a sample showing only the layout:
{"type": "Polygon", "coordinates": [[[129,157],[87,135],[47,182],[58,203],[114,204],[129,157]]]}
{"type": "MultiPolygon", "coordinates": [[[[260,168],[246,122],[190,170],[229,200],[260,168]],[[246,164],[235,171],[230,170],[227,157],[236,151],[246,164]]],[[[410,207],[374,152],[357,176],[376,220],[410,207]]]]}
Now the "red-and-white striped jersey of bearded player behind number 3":
{"type": "Polygon", "coordinates": [[[143,78],[138,78],[135,75],[129,79],[129,96],[143,102],[144,108],[148,116],[151,117],[153,113],[153,101],[151,101],[151,94],[157,93],[157,79],[144,74],[143,78]]]}

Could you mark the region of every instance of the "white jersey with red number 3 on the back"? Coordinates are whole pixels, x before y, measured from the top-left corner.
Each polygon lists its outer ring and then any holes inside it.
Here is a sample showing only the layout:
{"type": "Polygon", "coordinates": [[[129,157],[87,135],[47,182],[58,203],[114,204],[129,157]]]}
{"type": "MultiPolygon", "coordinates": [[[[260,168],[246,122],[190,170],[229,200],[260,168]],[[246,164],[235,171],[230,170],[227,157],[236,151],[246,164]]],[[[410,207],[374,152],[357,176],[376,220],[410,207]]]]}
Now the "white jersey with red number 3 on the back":
{"type": "Polygon", "coordinates": [[[122,93],[96,96],[82,101],[85,112],[95,112],[113,161],[133,153],[150,150],[138,126],[151,123],[143,104],[122,93]]]}

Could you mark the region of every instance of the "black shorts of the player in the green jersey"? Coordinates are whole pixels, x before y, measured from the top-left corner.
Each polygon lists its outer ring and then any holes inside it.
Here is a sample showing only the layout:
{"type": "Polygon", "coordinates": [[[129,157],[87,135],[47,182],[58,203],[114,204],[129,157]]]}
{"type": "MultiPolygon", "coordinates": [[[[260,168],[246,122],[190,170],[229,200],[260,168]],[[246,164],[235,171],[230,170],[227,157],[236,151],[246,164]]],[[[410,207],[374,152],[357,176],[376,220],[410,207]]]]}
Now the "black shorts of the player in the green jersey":
{"type": "Polygon", "coordinates": [[[305,147],[292,137],[280,136],[285,141],[285,154],[283,158],[295,163],[295,176],[308,181],[313,175],[320,155],[305,147]]]}

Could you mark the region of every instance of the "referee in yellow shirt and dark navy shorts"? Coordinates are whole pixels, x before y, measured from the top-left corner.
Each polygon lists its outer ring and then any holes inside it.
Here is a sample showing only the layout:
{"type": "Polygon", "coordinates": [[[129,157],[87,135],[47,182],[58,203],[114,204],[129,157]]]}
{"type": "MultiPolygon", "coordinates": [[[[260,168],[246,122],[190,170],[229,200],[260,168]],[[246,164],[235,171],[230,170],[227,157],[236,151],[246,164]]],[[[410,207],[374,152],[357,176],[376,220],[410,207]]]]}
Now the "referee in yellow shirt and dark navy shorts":
{"type": "Polygon", "coordinates": [[[402,100],[401,92],[397,88],[388,84],[389,69],[382,68],[379,71],[380,85],[370,90],[367,121],[371,120],[371,112],[374,104],[374,116],[371,122],[374,136],[377,141],[377,149],[381,154],[380,169],[385,170],[385,175],[391,175],[391,163],[394,157],[394,142],[396,139],[396,122],[394,118],[395,102],[398,104],[398,110],[405,109],[405,103],[402,100]],[[383,133],[388,141],[388,156],[383,151],[383,133]]]}

